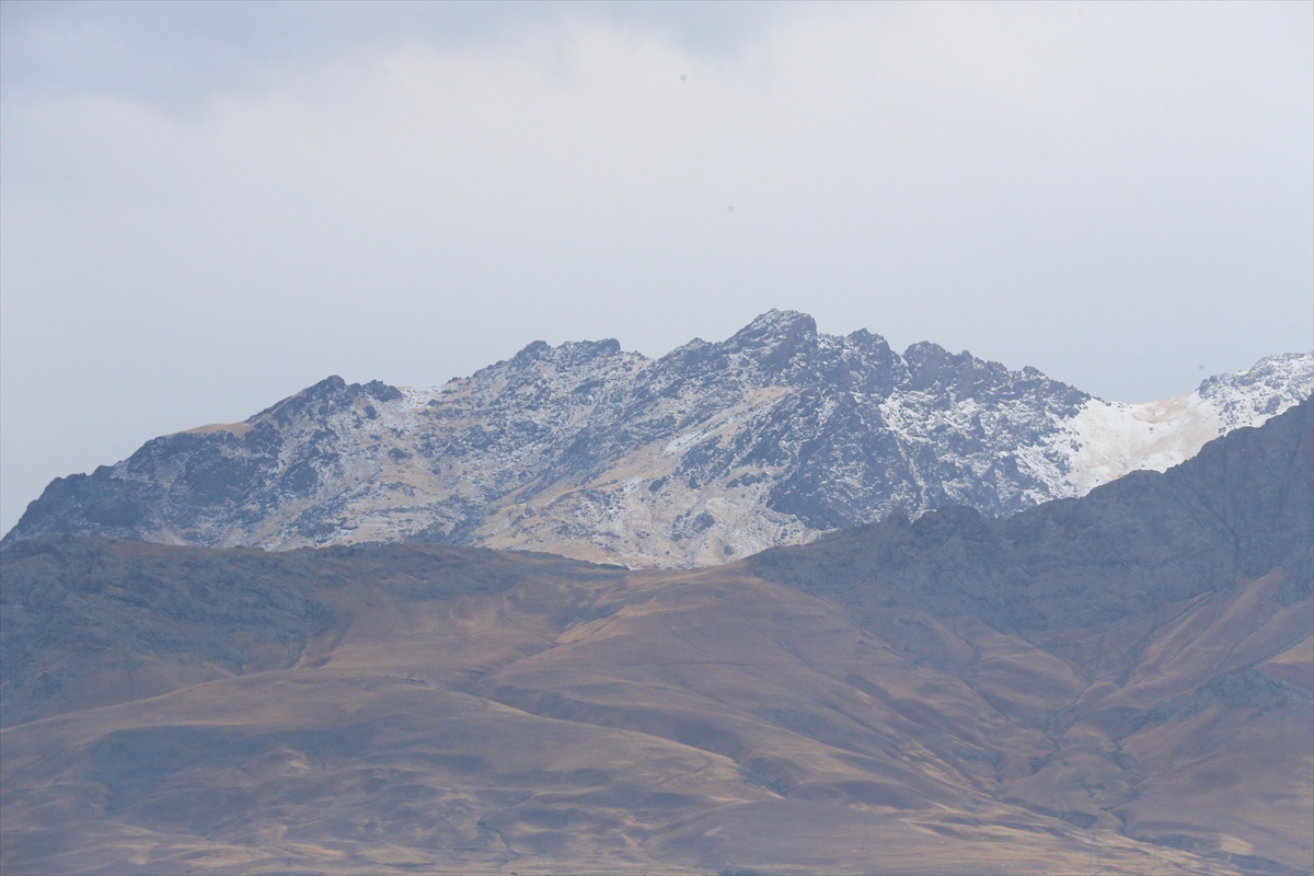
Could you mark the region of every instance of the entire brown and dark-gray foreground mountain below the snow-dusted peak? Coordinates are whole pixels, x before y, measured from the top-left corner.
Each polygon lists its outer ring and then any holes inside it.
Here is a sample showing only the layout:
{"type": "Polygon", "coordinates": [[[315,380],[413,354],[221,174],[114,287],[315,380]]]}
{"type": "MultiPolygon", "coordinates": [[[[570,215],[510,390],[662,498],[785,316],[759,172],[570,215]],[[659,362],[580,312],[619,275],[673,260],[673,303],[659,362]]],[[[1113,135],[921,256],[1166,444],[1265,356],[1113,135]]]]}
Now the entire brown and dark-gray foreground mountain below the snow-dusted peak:
{"type": "Polygon", "coordinates": [[[715,569],[0,552],[0,868],[1314,869],[1314,402],[715,569]]]}

